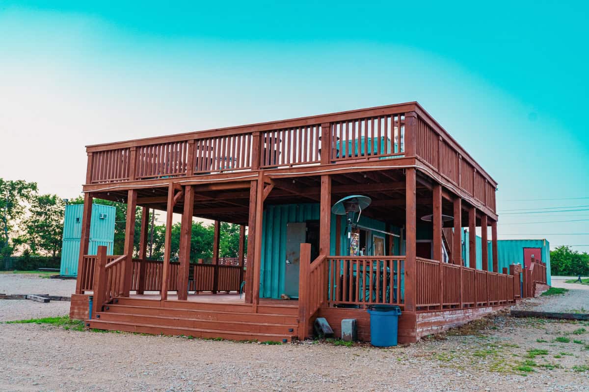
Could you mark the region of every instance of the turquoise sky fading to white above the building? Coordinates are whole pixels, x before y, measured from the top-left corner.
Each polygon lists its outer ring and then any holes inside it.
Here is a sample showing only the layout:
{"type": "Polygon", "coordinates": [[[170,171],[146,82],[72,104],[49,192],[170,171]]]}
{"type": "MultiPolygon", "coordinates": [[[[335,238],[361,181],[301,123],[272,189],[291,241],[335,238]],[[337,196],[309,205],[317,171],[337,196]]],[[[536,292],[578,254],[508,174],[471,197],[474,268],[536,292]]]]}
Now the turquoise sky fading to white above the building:
{"type": "Polygon", "coordinates": [[[0,177],[75,197],[85,145],[417,100],[499,239],[589,251],[586,2],[95,3],[0,0],[0,177]]]}

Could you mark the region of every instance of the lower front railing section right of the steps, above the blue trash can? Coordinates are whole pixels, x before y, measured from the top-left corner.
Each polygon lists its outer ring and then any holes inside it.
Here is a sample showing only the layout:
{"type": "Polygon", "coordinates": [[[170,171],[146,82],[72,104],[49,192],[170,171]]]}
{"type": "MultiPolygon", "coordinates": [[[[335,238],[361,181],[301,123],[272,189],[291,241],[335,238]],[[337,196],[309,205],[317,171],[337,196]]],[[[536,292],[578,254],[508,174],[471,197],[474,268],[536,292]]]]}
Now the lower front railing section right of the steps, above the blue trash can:
{"type": "Polygon", "coordinates": [[[329,256],[326,262],[330,306],[403,307],[405,256],[329,256]]]}

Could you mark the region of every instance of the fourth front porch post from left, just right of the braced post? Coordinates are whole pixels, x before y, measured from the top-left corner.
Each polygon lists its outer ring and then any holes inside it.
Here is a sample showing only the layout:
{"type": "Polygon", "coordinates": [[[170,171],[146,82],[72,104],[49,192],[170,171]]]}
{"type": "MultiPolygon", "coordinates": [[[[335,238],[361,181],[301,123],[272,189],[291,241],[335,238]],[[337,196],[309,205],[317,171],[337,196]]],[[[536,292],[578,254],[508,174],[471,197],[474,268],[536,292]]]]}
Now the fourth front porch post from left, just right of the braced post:
{"type": "Polygon", "coordinates": [[[194,211],[194,189],[191,185],[184,187],[184,211],[180,226],[180,249],[178,259],[178,300],[188,299],[188,277],[190,276],[190,246],[192,239],[192,217],[194,211]]]}

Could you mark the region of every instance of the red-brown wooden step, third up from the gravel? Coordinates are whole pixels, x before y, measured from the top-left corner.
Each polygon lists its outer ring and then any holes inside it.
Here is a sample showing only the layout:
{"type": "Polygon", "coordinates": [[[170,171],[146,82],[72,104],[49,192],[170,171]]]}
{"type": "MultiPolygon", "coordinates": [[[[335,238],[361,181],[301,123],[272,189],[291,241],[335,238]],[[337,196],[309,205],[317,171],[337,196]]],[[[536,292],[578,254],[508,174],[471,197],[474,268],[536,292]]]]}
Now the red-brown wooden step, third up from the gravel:
{"type": "MultiPolygon", "coordinates": [[[[262,317],[264,323],[296,324],[298,318],[298,316],[280,313],[234,313],[231,311],[160,308],[125,304],[109,304],[107,307],[108,312],[110,313],[132,313],[143,314],[145,316],[183,317],[186,319],[211,321],[244,321],[256,323],[259,322],[260,317],[262,317]]],[[[276,309],[273,310],[276,311],[276,309]]]]}

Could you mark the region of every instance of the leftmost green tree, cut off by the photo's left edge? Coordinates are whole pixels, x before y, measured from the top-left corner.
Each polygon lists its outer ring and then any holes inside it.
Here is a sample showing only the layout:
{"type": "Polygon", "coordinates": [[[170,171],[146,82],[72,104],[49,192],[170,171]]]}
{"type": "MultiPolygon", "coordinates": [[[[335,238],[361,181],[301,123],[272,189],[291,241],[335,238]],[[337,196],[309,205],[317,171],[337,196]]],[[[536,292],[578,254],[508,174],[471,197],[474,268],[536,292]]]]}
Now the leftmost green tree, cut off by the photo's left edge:
{"type": "Polygon", "coordinates": [[[0,178],[0,253],[10,256],[13,246],[10,237],[14,228],[24,215],[26,206],[37,193],[37,183],[25,180],[5,180],[0,178]]]}

